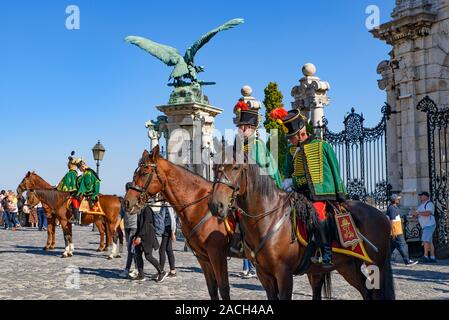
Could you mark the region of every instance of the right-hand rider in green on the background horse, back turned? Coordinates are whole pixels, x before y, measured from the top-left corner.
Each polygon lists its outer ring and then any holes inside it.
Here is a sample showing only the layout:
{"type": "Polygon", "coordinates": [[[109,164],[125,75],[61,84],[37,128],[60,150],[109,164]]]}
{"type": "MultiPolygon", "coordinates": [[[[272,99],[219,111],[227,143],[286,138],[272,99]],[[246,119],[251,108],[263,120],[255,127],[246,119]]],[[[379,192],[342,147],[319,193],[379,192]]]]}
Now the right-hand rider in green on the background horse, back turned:
{"type": "MultiPolygon", "coordinates": [[[[77,180],[78,192],[76,196],[82,200],[87,198],[90,208],[95,209],[98,203],[98,196],[100,194],[100,178],[97,173],[89,168],[83,159],[79,159],[77,163],[78,169],[83,173],[77,180]]],[[[97,211],[97,210],[93,210],[97,211]]]]}

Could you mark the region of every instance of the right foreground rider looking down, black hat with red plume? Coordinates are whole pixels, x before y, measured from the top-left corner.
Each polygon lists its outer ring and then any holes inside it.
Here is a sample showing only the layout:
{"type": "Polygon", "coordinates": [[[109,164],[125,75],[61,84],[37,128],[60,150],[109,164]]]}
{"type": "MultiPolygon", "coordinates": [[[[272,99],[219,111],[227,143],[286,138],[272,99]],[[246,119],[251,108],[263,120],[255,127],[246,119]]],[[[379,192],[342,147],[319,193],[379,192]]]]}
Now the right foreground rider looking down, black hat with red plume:
{"type": "Polygon", "coordinates": [[[312,262],[331,267],[332,249],[326,214],[332,210],[328,208],[328,202],[342,203],[346,200],[335,152],[329,143],[309,134],[307,120],[299,110],[287,112],[284,108],[277,108],[270,116],[282,125],[290,141],[284,164],[286,179],[283,188],[305,195],[312,201],[318,215],[321,257],[313,257],[312,262]]]}

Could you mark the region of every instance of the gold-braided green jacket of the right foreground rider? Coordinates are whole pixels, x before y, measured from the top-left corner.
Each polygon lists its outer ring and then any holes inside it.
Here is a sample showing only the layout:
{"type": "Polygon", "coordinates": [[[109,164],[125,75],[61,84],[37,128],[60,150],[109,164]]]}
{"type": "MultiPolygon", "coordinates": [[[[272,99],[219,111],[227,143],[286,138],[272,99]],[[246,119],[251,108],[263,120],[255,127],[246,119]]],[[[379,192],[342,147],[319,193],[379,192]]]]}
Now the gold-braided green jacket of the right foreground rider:
{"type": "Polygon", "coordinates": [[[293,159],[296,147],[290,145],[285,159],[284,172],[286,178],[292,178],[295,189],[308,194],[313,201],[346,199],[338,160],[331,145],[309,138],[302,146],[293,159]]]}

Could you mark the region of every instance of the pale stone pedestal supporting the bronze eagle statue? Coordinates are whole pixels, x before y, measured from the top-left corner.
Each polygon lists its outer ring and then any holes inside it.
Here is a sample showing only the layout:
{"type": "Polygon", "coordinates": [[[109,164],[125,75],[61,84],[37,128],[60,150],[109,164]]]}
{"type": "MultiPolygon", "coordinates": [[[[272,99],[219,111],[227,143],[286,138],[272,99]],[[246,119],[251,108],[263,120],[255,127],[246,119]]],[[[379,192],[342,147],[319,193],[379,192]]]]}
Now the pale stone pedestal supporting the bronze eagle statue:
{"type": "Polygon", "coordinates": [[[167,117],[167,159],[212,179],[214,122],[223,110],[197,84],[175,88],[168,104],[156,108],[167,117]]]}

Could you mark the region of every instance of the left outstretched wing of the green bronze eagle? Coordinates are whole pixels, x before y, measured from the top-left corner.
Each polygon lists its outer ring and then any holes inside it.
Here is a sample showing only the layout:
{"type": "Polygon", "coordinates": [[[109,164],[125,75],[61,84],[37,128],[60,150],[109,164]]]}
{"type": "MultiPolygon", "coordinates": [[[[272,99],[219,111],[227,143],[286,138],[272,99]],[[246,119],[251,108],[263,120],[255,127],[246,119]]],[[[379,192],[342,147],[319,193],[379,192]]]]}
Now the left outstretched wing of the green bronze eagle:
{"type": "Polygon", "coordinates": [[[187,64],[177,49],[137,36],[128,36],[125,41],[145,50],[167,66],[175,66],[170,78],[179,78],[189,73],[187,64]]]}

